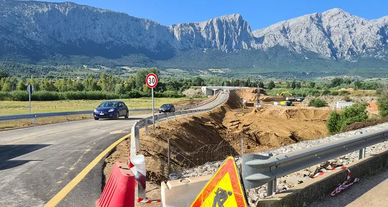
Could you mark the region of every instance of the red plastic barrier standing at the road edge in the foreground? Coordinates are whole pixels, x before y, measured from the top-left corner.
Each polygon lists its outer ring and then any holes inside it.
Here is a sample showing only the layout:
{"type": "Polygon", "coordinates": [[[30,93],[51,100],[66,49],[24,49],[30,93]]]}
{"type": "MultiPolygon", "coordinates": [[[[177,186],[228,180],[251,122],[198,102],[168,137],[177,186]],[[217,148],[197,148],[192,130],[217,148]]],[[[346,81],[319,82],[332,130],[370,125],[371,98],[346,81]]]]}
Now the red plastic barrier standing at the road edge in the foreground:
{"type": "Polygon", "coordinates": [[[134,207],[135,175],[125,162],[116,162],[96,207],[134,207]]]}

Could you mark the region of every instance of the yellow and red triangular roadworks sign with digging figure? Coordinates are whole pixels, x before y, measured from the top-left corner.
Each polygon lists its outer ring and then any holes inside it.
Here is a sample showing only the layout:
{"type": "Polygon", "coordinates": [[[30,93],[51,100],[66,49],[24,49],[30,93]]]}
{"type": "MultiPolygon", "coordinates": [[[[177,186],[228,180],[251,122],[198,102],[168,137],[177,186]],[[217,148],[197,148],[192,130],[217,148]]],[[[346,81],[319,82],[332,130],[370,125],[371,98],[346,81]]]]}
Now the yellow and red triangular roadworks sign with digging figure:
{"type": "Polygon", "coordinates": [[[247,207],[233,157],[222,163],[191,207],[247,207]]]}

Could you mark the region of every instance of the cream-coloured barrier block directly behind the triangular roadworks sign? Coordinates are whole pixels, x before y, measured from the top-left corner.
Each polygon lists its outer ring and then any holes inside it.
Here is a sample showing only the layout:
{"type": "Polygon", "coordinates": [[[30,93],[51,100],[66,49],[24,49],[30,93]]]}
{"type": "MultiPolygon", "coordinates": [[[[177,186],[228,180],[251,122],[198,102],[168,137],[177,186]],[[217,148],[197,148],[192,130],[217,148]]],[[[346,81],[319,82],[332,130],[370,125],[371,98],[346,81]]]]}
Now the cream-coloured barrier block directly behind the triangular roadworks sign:
{"type": "Polygon", "coordinates": [[[190,207],[213,175],[162,182],[162,207],[190,207]]]}

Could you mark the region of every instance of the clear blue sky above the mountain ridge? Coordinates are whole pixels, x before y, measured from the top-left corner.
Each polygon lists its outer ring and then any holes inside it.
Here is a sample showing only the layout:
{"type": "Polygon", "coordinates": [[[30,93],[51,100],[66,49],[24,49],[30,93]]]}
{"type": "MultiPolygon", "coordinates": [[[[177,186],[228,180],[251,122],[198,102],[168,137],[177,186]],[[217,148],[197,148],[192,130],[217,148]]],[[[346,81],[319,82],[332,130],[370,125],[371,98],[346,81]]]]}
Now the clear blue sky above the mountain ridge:
{"type": "MultiPolygon", "coordinates": [[[[64,2],[68,0],[46,0],[64,2]]],[[[241,14],[252,30],[282,20],[341,8],[367,19],[388,16],[388,0],[70,0],[130,16],[155,20],[163,25],[198,22],[213,17],[241,14]]]]}

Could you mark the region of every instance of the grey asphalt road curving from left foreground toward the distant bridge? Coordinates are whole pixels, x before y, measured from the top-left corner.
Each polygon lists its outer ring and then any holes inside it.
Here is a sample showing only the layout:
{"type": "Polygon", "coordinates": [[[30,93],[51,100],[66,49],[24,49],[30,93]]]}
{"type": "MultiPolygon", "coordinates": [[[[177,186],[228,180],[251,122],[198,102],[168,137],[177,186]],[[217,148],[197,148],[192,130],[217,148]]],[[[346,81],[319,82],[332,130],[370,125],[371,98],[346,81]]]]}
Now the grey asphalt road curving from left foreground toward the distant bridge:
{"type": "MultiPolygon", "coordinates": [[[[222,103],[220,94],[203,109],[222,103]]],[[[42,207],[108,146],[150,114],[69,121],[0,131],[0,206],[42,207]]],[[[104,159],[57,205],[95,206],[104,159]]]]}

